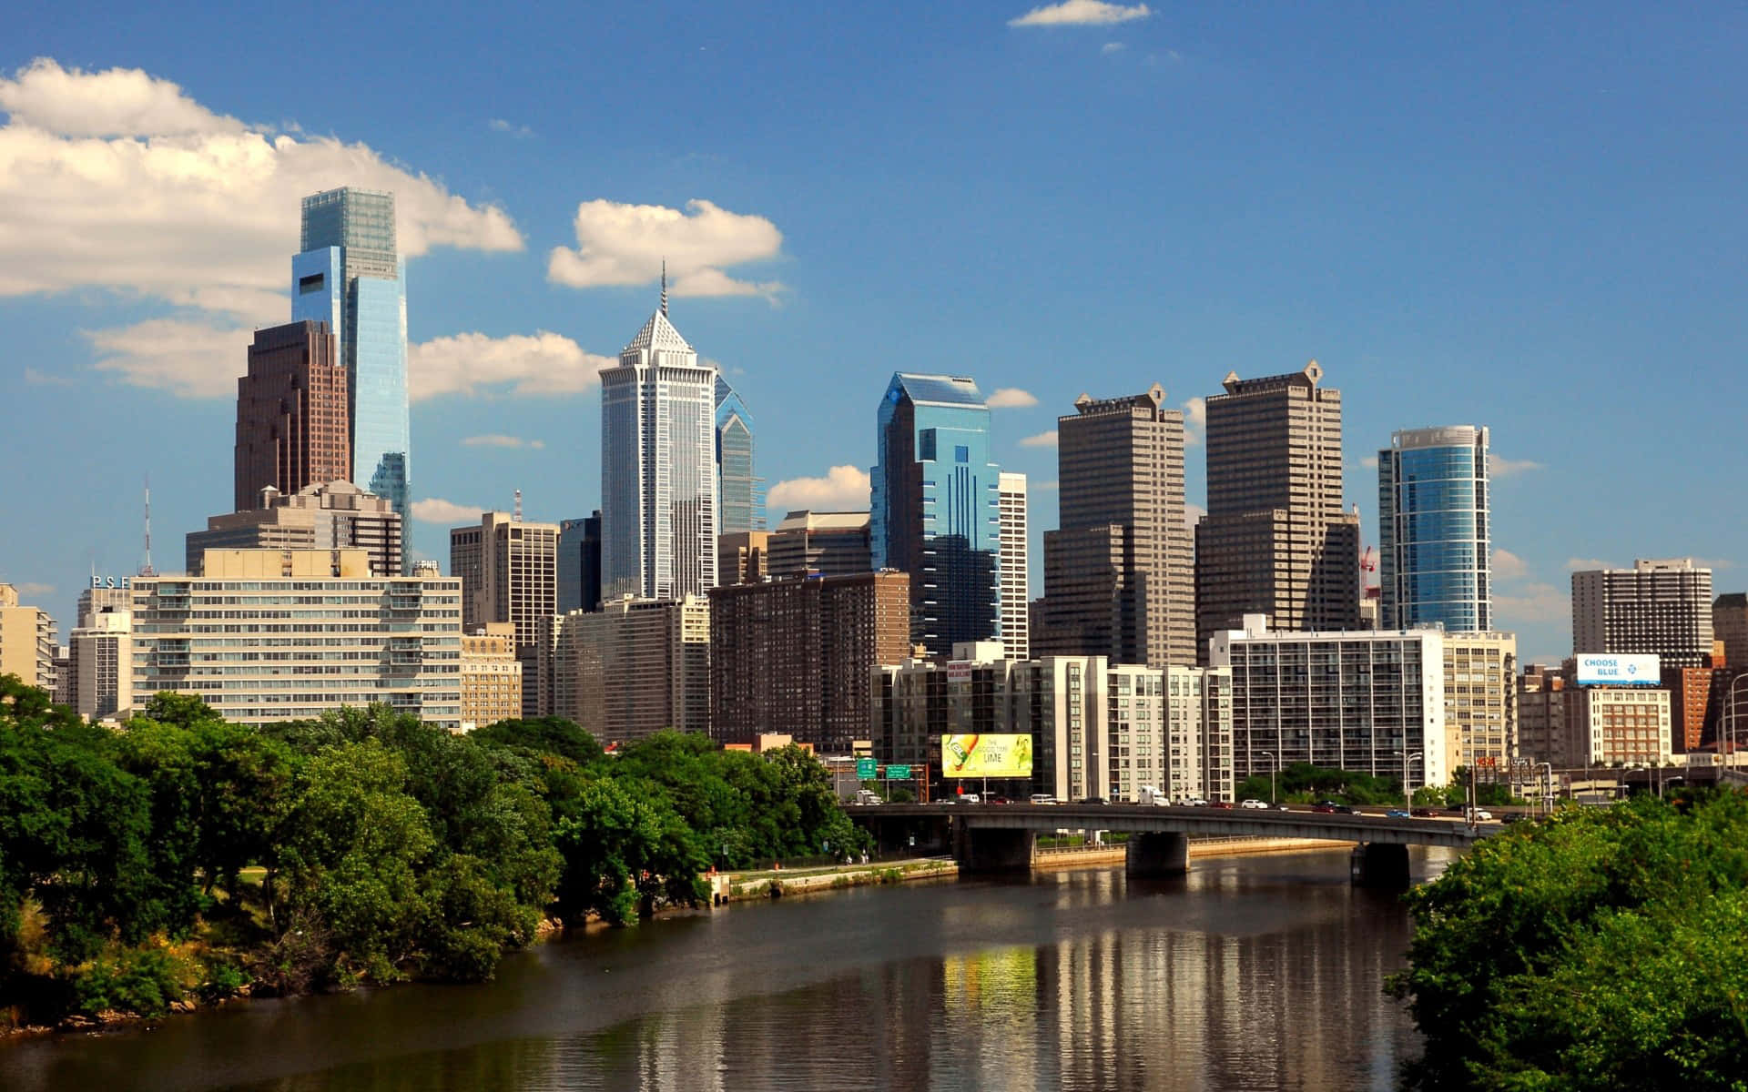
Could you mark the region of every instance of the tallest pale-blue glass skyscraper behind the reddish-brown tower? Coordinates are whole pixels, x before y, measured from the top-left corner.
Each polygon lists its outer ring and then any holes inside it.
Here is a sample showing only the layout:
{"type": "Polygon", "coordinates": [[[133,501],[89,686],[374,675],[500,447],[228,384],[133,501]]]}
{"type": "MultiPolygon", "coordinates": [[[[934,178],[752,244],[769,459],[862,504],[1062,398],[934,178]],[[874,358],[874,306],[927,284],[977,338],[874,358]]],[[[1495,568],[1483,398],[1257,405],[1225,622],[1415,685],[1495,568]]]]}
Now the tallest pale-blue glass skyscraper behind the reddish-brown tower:
{"type": "Polygon", "coordinates": [[[351,384],[351,480],[392,501],[400,526],[411,528],[407,281],[395,250],[395,196],[346,187],[304,197],[299,252],[292,321],[325,321],[339,341],[351,384]]]}

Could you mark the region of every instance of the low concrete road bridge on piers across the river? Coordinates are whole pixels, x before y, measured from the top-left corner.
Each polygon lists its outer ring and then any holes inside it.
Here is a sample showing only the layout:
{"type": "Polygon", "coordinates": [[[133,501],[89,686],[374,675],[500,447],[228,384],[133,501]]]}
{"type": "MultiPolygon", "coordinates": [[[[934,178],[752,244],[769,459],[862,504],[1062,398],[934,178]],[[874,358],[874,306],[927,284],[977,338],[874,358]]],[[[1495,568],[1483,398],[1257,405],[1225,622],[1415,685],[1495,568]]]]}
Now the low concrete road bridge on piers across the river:
{"type": "Polygon", "coordinates": [[[1105,830],[1129,835],[1126,868],[1138,877],[1189,872],[1196,835],[1353,842],[1353,881],[1365,886],[1405,886],[1409,846],[1467,849],[1503,830],[1461,819],[1150,804],[877,804],[848,812],[881,846],[951,846],[961,872],[1028,870],[1040,832],[1105,830]]]}

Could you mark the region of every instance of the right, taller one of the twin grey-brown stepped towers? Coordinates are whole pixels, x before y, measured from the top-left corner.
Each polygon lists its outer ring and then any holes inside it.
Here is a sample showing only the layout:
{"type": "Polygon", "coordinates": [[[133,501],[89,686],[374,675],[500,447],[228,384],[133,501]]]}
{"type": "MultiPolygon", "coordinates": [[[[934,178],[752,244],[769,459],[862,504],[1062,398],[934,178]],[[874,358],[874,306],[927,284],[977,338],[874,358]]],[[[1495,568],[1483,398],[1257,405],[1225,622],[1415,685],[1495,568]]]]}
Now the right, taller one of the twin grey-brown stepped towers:
{"type": "MultiPolygon", "coordinates": [[[[1208,411],[1208,515],[1196,526],[1196,643],[1262,613],[1276,632],[1356,629],[1360,519],[1342,508],[1341,391],[1316,360],[1225,377],[1208,411]]],[[[1065,491],[1066,494],[1066,491],[1065,491]]]]}

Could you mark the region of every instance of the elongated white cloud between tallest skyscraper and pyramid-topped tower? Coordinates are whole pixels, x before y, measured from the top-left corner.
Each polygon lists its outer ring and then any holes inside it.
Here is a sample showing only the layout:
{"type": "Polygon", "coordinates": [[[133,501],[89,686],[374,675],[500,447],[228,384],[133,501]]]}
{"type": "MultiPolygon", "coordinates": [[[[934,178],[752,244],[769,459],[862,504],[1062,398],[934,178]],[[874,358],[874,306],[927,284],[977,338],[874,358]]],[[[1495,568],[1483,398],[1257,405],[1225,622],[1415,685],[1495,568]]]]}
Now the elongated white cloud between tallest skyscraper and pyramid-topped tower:
{"type": "Polygon", "coordinates": [[[580,395],[601,381],[615,356],[587,353],[570,337],[537,334],[449,334],[407,346],[413,402],[440,395],[580,395]],[[500,391],[496,388],[509,388],[500,391]]]}

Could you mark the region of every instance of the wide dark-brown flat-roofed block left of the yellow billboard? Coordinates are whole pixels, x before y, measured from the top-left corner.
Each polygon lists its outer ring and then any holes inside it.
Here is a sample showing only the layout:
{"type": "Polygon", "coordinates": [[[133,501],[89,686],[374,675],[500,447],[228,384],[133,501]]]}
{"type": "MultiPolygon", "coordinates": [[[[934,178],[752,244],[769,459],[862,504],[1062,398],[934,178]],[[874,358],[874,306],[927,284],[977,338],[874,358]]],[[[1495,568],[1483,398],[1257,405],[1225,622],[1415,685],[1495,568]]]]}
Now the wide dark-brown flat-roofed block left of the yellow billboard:
{"type": "Polygon", "coordinates": [[[869,671],[911,653],[905,573],[778,577],[710,592],[711,736],[785,732],[822,755],[867,739],[869,671]]]}

